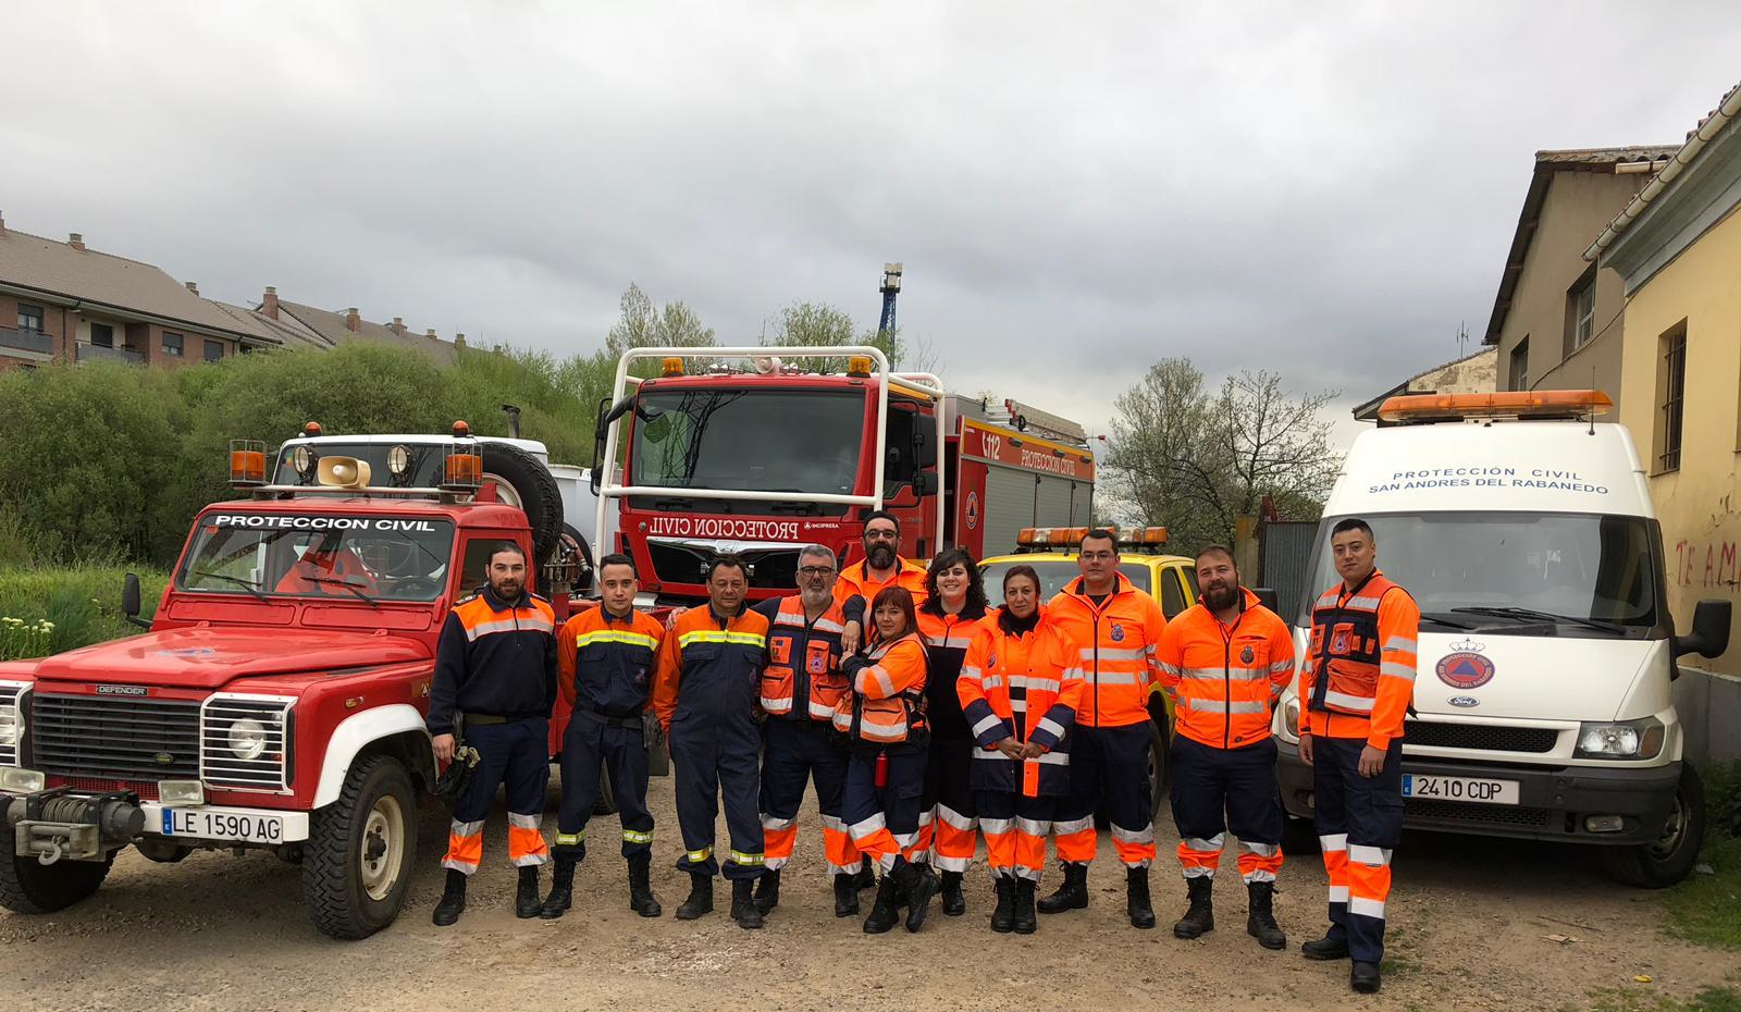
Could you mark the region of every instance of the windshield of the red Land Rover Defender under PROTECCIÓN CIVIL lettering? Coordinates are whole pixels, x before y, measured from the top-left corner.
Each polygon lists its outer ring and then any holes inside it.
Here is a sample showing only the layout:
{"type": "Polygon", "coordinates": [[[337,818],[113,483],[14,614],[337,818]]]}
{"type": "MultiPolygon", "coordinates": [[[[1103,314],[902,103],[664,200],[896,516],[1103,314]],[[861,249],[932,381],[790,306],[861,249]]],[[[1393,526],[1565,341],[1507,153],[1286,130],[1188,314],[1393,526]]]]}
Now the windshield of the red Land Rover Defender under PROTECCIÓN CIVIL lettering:
{"type": "Polygon", "coordinates": [[[176,587],[209,594],[434,601],[453,524],[334,514],[207,514],[176,587]]]}

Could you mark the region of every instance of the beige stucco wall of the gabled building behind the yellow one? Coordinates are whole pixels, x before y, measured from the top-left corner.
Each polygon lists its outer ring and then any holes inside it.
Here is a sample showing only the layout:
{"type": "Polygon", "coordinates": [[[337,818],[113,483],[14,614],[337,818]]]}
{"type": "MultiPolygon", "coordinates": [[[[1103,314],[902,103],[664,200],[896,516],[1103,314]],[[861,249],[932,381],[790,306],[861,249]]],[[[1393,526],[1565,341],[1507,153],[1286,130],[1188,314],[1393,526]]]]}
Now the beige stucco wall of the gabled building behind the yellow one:
{"type": "MultiPolygon", "coordinates": [[[[1649,179],[1649,172],[1555,172],[1499,331],[1499,390],[1511,388],[1511,352],[1529,338],[1532,388],[1586,390],[1595,383],[1619,401],[1621,326],[1616,322],[1567,359],[1565,293],[1590,268],[1584,249],[1649,179]]],[[[1623,301],[1619,273],[1598,270],[1595,329],[1612,320],[1623,301]]]]}

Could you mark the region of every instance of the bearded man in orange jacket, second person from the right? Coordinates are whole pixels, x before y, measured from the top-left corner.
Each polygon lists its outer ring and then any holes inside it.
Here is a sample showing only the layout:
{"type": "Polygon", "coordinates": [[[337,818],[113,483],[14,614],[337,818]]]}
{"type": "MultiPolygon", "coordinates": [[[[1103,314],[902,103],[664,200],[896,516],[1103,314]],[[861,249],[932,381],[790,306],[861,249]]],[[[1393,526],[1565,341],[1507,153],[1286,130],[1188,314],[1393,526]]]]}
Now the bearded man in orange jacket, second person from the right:
{"type": "Polygon", "coordinates": [[[1273,899],[1283,813],[1269,718],[1294,679],[1294,641],[1240,585],[1226,545],[1198,552],[1196,571],[1200,601],[1166,624],[1156,650],[1160,683],[1173,698],[1173,822],[1191,902],[1173,935],[1215,930],[1210,899],[1231,829],[1248,897],[1245,930],[1266,949],[1281,949],[1288,941],[1273,899]]]}

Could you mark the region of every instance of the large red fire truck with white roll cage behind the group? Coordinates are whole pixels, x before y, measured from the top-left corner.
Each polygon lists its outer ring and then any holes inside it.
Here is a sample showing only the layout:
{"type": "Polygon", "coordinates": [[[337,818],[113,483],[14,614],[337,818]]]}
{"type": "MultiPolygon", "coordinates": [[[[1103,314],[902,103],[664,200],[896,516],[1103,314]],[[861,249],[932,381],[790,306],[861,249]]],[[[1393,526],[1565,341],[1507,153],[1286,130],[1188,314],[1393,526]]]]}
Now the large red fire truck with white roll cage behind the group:
{"type": "Polygon", "coordinates": [[[604,543],[635,559],[644,606],[705,597],[721,552],[745,557],[752,597],[790,592],[808,543],[843,564],[862,557],[876,509],[900,517],[914,559],[945,545],[1010,552],[1022,528],[1093,512],[1079,427],[947,394],[872,347],[632,350],[601,404],[595,455],[595,530],[615,530],[604,543]],[[817,359],[844,373],[797,368],[817,359]],[[635,380],[648,361],[660,374],[635,380]]]}

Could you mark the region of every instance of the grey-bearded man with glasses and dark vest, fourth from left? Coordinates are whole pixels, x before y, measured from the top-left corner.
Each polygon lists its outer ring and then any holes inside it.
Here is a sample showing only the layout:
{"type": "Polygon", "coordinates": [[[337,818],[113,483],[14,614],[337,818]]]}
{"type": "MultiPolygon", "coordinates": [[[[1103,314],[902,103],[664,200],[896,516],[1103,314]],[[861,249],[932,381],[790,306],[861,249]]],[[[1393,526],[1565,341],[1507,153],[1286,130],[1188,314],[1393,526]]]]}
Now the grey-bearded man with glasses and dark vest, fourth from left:
{"type": "Polygon", "coordinates": [[[834,916],[858,913],[853,876],[860,853],[841,820],[846,749],[836,742],[834,709],[848,690],[841,658],[857,648],[864,597],[834,599],[834,552],[810,545],[797,557],[797,594],[756,606],[768,618],[768,667],[761,676],[763,723],[761,817],[766,873],[756,883],[763,914],[780,902],[780,869],[797,841],[797,806],[804,780],[817,784],[822,848],[834,874],[834,916]],[[851,644],[844,643],[851,639],[851,644]]]}

